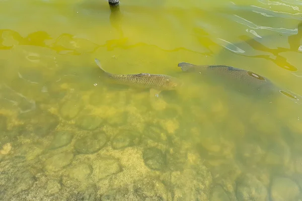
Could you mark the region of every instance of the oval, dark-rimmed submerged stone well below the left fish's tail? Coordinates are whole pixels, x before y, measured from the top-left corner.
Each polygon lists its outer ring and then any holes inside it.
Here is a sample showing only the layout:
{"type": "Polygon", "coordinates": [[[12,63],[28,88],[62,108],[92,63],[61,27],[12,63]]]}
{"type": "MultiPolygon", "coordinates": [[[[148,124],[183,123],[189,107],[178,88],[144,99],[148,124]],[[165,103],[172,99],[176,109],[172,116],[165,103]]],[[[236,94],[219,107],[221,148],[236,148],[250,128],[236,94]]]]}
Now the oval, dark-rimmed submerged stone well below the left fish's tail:
{"type": "Polygon", "coordinates": [[[97,132],[78,139],[74,144],[74,149],[80,154],[92,154],[102,149],[106,143],[106,134],[97,132]]]}

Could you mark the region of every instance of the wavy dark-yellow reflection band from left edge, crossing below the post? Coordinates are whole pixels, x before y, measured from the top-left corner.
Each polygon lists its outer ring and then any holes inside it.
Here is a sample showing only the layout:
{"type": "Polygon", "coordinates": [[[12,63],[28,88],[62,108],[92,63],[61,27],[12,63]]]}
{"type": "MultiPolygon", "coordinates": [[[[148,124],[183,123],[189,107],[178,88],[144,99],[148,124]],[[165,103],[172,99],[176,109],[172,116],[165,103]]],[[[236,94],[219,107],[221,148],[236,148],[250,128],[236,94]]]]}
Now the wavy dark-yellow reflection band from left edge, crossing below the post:
{"type": "MultiPolygon", "coordinates": [[[[119,13],[118,11],[116,11],[119,13]]],[[[115,13],[115,12],[114,12],[115,13]]],[[[120,13],[117,15],[119,16],[120,13]]],[[[113,14],[115,16],[115,14],[113,14]]],[[[114,17],[115,18],[115,17],[114,17]]],[[[147,43],[138,42],[136,44],[127,44],[128,38],[123,36],[123,31],[121,26],[118,22],[112,23],[112,25],[116,28],[117,32],[120,35],[120,39],[112,39],[107,40],[105,44],[96,44],[87,39],[75,38],[71,34],[61,34],[56,39],[51,38],[46,32],[44,31],[37,31],[34,33],[29,34],[27,37],[22,37],[18,32],[14,30],[0,30],[0,49],[1,50],[10,50],[14,47],[20,45],[27,45],[27,46],[39,46],[39,47],[46,47],[51,50],[56,51],[57,54],[62,55],[82,55],[83,53],[93,53],[101,47],[106,47],[108,51],[112,51],[115,48],[122,48],[122,49],[131,49],[135,47],[142,47],[142,46],[152,46],[156,47],[162,51],[166,52],[177,52],[180,50],[189,51],[192,53],[197,53],[201,55],[209,55],[208,53],[201,53],[197,51],[193,51],[184,47],[179,47],[171,50],[162,49],[155,45],[149,45],[147,43]],[[31,38],[34,36],[34,40],[31,38]],[[9,41],[9,37],[12,37],[14,41],[9,41]],[[8,41],[7,41],[8,40],[8,41]],[[12,44],[15,43],[15,44],[12,44]],[[6,45],[8,44],[8,45],[6,45]]],[[[29,55],[27,58],[31,60],[31,56],[29,55]]]]}

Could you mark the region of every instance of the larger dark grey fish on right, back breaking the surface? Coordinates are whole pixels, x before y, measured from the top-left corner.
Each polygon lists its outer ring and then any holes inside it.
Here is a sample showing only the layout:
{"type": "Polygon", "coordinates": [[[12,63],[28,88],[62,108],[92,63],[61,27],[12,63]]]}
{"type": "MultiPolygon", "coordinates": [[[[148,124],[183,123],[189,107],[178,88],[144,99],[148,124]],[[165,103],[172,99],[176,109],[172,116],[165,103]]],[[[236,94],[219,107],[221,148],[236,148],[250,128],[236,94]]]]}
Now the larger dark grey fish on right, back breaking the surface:
{"type": "Polygon", "coordinates": [[[242,93],[273,95],[279,88],[268,78],[250,70],[226,65],[195,65],[181,62],[182,72],[198,74],[203,80],[209,80],[231,87],[242,93]],[[256,92],[256,93],[255,93],[256,92]]]}

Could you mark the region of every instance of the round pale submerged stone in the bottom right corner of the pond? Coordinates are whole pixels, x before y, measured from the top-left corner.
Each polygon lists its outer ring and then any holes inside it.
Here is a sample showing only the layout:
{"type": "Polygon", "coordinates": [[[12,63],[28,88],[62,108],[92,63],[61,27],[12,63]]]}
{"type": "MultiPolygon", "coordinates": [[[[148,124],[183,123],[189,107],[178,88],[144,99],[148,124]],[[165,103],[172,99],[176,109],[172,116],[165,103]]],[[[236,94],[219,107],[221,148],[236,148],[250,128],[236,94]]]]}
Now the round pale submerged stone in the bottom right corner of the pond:
{"type": "Polygon", "coordinates": [[[286,177],[276,177],[271,186],[271,198],[274,201],[298,200],[300,194],[297,183],[286,177]]]}

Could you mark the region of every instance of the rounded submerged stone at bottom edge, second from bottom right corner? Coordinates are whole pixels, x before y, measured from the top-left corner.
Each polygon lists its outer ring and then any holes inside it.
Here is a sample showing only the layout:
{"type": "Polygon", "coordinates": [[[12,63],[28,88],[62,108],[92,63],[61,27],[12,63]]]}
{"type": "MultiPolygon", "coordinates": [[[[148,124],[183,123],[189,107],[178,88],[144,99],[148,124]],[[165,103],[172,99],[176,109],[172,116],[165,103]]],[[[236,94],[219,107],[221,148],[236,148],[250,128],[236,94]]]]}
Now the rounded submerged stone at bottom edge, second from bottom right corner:
{"type": "Polygon", "coordinates": [[[255,176],[247,174],[237,181],[237,199],[238,201],[267,201],[267,189],[255,176]]]}

